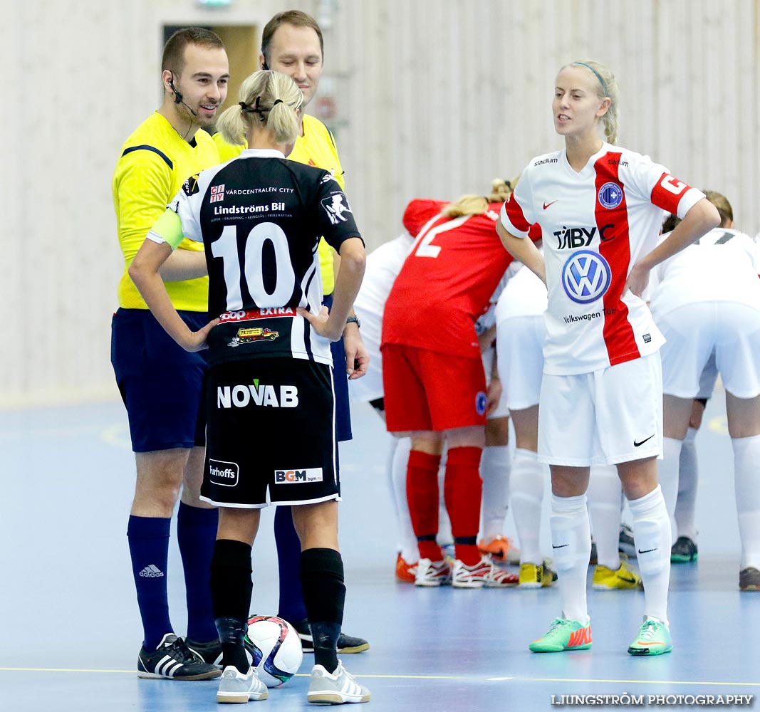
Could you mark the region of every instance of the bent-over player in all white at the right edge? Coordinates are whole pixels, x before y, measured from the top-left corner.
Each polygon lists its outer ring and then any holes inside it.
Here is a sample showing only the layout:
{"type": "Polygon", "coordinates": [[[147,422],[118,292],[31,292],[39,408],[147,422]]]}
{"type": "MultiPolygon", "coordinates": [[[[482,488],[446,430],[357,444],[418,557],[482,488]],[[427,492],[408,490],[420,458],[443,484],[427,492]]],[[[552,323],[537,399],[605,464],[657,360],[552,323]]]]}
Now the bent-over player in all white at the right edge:
{"type": "Polygon", "coordinates": [[[658,472],[676,540],[679,460],[706,366],[726,389],[742,556],[739,588],[760,590],[760,246],[733,229],[730,204],[708,192],[720,227],[652,271],[652,315],[662,350],[664,458],[658,472]]]}

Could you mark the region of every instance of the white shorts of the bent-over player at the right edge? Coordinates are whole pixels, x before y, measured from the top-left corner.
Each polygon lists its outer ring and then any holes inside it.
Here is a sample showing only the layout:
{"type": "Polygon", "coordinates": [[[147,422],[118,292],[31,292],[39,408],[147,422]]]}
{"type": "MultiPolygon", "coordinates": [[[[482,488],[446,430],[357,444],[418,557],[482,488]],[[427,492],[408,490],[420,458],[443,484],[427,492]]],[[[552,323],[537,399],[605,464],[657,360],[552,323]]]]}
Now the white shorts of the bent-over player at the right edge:
{"type": "Polygon", "coordinates": [[[662,347],[663,392],[708,397],[700,379],[712,354],[724,388],[737,398],[760,395],[760,309],[739,302],[695,302],[657,321],[662,347]]]}

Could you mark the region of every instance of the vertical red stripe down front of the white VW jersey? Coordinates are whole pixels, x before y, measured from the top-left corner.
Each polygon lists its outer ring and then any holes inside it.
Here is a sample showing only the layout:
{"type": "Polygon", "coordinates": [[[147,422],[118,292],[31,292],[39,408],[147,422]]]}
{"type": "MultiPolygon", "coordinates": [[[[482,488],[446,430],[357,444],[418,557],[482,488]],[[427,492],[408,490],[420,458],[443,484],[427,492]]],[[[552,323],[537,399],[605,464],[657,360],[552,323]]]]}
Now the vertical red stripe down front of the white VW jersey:
{"type": "Polygon", "coordinates": [[[636,346],[633,328],[628,321],[628,307],[622,301],[622,290],[628,279],[631,264],[631,245],[628,229],[628,207],[625,204],[625,191],[618,175],[620,153],[606,153],[597,160],[597,204],[594,214],[600,235],[612,234],[612,239],[599,242],[599,254],[610,264],[612,281],[610,289],[604,294],[604,344],[610,356],[610,365],[637,359],[641,356],[636,346]],[[606,208],[600,203],[599,192],[606,183],[619,185],[622,198],[620,204],[606,208]],[[609,226],[612,226],[610,229],[609,226]],[[604,229],[606,228],[606,229],[604,229]]]}

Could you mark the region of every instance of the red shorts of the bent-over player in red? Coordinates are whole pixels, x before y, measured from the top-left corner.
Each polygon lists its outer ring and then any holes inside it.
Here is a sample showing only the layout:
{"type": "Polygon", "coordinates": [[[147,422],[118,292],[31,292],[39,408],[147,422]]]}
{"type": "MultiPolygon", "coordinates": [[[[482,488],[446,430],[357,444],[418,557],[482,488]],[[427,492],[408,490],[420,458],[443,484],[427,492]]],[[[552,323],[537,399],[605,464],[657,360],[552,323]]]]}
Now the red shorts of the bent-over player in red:
{"type": "Polygon", "coordinates": [[[386,343],[382,377],[389,432],[486,424],[486,374],[481,359],[386,343]]]}

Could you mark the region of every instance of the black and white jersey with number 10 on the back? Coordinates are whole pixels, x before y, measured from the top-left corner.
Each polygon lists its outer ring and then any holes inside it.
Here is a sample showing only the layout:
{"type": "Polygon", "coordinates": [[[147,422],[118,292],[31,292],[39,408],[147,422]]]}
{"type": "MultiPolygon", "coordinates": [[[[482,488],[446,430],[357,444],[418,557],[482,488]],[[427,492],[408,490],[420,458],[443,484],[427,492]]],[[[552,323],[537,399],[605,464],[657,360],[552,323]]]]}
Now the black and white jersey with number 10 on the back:
{"type": "Polygon", "coordinates": [[[169,208],[186,237],[204,243],[209,274],[211,363],[288,356],[331,363],[329,342],[296,307],[319,312],[317,245],[336,250],[359,235],[329,172],[285,160],[277,150],[244,150],[185,182],[169,208]]]}

